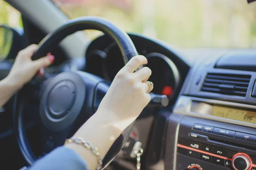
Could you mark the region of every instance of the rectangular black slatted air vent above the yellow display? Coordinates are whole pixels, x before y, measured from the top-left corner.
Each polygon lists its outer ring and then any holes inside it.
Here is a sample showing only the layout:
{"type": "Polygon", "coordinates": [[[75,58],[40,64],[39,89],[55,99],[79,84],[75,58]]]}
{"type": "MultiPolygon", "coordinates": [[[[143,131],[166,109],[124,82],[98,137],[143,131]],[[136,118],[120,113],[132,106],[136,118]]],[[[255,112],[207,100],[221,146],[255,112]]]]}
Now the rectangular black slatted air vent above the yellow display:
{"type": "Polygon", "coordinates": [[[208,73],[201,91],[246,96],[250,75],[208,73]]]}

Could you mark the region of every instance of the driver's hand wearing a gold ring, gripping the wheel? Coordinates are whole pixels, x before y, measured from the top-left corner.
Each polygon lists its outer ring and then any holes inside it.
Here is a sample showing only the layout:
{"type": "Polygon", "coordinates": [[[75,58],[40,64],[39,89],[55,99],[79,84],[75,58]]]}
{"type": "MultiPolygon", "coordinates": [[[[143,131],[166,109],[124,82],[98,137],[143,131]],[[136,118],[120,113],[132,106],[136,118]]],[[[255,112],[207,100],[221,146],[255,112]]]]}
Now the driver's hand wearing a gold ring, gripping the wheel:
{"type": "Polygon", "coordinates": [[[145,81],[151,76],[151,70],[140,65],[147,64],[144,56],[133,57],[114,78],[107,94],[102,99],[98,111],[115,117],[116,121],[132,123],[142,112],[151,96],[146,92],[149,86],[145,81]]]}

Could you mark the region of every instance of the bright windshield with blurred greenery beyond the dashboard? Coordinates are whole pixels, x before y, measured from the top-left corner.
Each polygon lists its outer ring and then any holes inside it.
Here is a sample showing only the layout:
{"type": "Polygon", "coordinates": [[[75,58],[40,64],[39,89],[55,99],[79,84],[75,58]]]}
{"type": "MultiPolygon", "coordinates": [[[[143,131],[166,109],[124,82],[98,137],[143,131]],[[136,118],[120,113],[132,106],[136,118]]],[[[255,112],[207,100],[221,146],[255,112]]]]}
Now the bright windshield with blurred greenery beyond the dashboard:
{"type": "MultiPolygon", "coordinates": [[[[246,0],[52,0],[70,19],[105,17],[181,48],[256,48],[256,3],[246,0]]],[[[90,37],[98,32],[88,32],[90,37]]]]}

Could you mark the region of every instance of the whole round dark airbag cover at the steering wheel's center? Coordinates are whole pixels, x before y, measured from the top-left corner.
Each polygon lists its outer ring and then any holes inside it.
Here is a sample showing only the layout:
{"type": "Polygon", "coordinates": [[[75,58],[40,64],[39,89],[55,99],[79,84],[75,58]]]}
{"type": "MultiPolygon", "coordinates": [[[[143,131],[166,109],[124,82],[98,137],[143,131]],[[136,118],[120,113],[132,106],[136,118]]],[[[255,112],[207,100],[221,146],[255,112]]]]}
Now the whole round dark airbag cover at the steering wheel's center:
{"type": "Polygon", "coordinates": [[[43,86],[40,117],[44,127],[52,131],[70,127],[84,105],[84,80],[74,72],[63,72],[47,80],[43,86]]]}

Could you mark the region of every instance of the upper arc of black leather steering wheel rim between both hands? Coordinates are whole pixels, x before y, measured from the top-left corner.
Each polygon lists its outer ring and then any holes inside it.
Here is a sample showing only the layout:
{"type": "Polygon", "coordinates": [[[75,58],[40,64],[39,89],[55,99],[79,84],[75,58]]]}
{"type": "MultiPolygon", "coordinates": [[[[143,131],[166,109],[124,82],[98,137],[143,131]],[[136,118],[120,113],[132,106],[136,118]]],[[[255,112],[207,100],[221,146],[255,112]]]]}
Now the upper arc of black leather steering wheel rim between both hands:
{"type": "Polygon", "coordinates": [[[138,54],[133,42],[131,41],[131,38],[126,34],[125,31],[101,17],[89,16],[70,20],[70,22],[61,26],[56,31],[48,34],[39,43],[39,49],[35,52],[33,59],[38,59],[45,56],[51,46],[57,45],[68,35],[73,34],[76,31],[86,29],[99,30],[113,38],[124,56],[123,58],[125,64],[131,59],[131,57],[138,54]]]}

